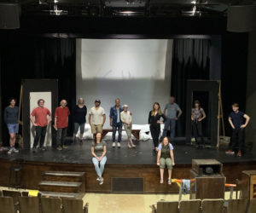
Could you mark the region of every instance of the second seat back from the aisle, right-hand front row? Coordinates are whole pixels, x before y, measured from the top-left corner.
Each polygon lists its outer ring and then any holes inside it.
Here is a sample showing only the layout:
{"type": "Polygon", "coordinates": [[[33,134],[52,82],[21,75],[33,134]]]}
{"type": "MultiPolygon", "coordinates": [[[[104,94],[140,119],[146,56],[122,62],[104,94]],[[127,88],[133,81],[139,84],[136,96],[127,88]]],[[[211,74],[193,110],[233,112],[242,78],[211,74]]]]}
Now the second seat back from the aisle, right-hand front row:
{"type": "Polygon", "coordinates": [[[179,203],[179,213],[200,213],[201,199],[182,200],[179,203]]]}

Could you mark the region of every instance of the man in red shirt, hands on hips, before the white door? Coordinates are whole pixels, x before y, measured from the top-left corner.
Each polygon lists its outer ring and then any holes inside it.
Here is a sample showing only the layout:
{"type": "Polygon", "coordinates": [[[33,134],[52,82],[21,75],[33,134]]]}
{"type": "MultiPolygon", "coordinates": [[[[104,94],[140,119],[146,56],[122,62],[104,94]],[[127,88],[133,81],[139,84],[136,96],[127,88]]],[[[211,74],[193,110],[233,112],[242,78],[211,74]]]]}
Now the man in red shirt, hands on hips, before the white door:
{"type": "Polygon", "coordinates": [[[34,144],[32,147],[33,153],[36,152],[36,149],[38,147],[38,141],[40,137],[40,150],[44,151],[44,138],[46,135],[46,129],[47,125],[49,124],[51,118],[51,113],[49,112],[49,109],[44,107],[44,99],[38,100],[38,107],[36,107],[31,115],[30,120],[32,124],[36,127],[36,136],[34,138],[34,144]],[[35,120],[34,120],[35,117],[35,120]]]}

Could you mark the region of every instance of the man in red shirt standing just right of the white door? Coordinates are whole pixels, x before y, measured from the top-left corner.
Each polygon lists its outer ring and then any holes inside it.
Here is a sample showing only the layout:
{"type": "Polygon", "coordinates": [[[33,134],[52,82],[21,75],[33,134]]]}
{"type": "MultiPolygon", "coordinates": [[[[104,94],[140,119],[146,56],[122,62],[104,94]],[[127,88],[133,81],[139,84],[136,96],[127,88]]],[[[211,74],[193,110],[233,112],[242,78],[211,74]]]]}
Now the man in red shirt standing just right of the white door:
{"type": "Polygon", "coordinates": [[[67,148],[64,146],[64,139],[67,135],[69,109],[66,107],[67,101],[61,101],[61,107],[55,109],[55,130],[57,130],[57,149],[67,148]]]}

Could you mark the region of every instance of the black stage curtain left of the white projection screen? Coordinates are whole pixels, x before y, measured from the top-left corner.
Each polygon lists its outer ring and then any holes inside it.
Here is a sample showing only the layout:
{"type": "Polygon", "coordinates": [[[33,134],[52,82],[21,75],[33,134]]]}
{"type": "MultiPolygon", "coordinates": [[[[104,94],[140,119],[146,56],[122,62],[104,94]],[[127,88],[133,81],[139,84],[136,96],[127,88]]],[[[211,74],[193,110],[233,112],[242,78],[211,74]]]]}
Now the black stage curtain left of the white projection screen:
{"type": "MultiPolygon", "coordinates": [[[[59,101],[66,99],[68,107],[73,109],[76,103],[75,39],[13,36],[4,37],[0,44],[3,108],[9,104],[9,97],[19,100],[22,78],[57,78],[59,101]]],[[[9,144],[5,124],[3,144],[9,144]]]]}

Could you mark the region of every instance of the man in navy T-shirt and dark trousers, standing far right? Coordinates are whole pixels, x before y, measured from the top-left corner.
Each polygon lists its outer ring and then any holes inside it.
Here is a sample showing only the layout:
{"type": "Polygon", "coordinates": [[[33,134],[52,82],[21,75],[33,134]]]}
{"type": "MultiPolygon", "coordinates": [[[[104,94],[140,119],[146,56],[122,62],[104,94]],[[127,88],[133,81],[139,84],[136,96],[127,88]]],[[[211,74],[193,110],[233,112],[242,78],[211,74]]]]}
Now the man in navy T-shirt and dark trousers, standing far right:
{"type": "Polygon", "coordinates": [[[250,117],[246,113],[240,112],[237,103],[232,104],[233,112],[230,112],[229,122],[233,129],[232,132],[232,150],[227,151],[227,154],[235,154],[236,142],[238,142],[237,156],[241,157],[241,147],[243,144],[244,129],[249,123],[250,117]],[[245,122],[244,122],[245,120],[245,122]]]}

